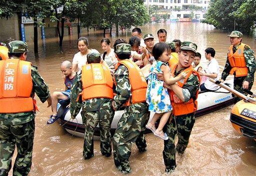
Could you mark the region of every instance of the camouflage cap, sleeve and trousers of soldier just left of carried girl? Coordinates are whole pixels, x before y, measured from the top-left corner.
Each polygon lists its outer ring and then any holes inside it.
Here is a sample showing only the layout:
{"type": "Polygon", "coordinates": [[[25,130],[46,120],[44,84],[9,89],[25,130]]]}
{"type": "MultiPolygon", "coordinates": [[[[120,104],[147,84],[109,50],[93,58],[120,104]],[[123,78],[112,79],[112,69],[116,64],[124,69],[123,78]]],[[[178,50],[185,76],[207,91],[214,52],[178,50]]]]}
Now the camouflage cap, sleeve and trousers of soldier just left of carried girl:
{"type": "MultiPolygon", "coordinates": [[[[131,46],[126,43],[116,44],[114,45],[114,49],[118,61],[129,60],[131,46]]],[[[114,73],[117,93],[112,103],[114,110],[119,109],[128,101],[131,103],[130,98],[133,96],[128,68],[123,64],[118,64],[114,73]]],[[[131,172],[129,157],[131,155],[132,145],[136,143],[141,153],[146,151],[147,145],[144,132],[148,119],[148,105],[146,102],[141,102],[126,106],[124,114],[118,122],[113,136],[113,155],[116,168],[124,174],[131,172]]]]}

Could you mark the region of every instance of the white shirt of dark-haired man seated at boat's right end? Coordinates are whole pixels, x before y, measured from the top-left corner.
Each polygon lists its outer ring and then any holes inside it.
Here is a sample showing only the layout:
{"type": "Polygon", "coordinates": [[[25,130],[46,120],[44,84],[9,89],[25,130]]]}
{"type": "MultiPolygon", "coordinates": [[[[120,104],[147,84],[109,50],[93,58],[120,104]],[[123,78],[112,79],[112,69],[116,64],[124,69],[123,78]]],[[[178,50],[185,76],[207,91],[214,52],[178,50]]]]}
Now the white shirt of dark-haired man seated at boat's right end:
{"type": "MultiPolygon", "coordinates": [[[[215,58],[211,59],[210,62],[208,63],[206,73],[209,73],[209,74],[217,73],[217,77],[214,79],[214,81],[219,80],[219,66],[218,66],[218,62],[215,58]]],[[[207,77],[206,81],[204,82],[205,88],[209,89],[209,90],[217,90],[219,88],[219,86],[210,82],[209,79],[210,78],[207,77]]]]}

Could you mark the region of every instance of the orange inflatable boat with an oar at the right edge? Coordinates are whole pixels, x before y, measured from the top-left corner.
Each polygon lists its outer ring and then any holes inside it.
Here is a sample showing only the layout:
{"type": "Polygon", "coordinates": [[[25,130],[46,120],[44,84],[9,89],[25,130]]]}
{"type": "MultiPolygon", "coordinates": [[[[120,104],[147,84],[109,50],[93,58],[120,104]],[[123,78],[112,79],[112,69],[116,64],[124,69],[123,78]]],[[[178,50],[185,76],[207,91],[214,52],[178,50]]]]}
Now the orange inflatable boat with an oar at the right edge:
{"type": "MultiPolygon", "coordinates": [[[[218,83],[218,85],[226,88],[222,83],[218,83]]],[[[243,91],[251,97],[247,97],[236,90],[229,91],[243,98],[231,110],[230,122],[233,128],[243,136],[256,140],[256,95],[246,89],[243,91]]]]}

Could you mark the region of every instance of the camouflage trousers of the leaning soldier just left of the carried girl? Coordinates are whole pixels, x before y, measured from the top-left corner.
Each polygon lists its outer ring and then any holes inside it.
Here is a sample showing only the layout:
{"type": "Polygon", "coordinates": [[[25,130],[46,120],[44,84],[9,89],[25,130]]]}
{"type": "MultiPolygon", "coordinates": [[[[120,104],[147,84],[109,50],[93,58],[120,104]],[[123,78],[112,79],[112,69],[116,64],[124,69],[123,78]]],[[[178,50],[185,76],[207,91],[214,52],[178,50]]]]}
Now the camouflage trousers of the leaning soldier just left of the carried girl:
{"type": "Polygon", "coordinates": [[[145,126],[149,112],[124,112],[113,136],[113,155],[116,168],[122,173],[130,173],[129,157],[132,145],[136,143],[140,152],[146,151],[145,126]]]}

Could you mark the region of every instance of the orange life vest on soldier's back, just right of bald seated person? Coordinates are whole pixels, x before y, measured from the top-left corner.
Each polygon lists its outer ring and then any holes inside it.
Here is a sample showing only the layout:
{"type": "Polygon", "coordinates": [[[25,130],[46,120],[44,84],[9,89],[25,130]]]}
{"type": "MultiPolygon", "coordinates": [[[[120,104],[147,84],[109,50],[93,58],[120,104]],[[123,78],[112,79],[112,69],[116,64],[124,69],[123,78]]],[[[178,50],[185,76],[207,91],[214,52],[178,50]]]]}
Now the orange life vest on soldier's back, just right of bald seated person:
{"type": "Polygon", "coordinates": [[[113,79],[108,67],[101,63],[86,64],[82,67],[82,100],[92,98],[113,99],[113,79]]]}

